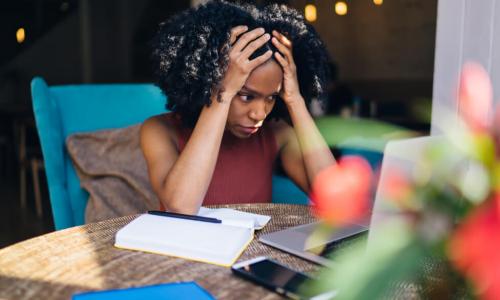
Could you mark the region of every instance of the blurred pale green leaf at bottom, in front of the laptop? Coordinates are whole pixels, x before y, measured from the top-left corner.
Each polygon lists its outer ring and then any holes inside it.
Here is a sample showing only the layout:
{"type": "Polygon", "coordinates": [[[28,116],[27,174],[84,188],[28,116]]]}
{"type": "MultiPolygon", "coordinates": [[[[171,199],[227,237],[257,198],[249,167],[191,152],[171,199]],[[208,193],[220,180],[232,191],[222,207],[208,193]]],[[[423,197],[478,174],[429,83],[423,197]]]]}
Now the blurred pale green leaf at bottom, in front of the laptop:
{"type": "Polygon", "coordinates": [[[381,299],[394,284],[418,274],[424,249],[416,243],[408,227],[399,221],[383,225],[368,244],[356,243],[332,259],[319,281],[306,286],[314,291],[337,290],[336,299],[381,299]]]}

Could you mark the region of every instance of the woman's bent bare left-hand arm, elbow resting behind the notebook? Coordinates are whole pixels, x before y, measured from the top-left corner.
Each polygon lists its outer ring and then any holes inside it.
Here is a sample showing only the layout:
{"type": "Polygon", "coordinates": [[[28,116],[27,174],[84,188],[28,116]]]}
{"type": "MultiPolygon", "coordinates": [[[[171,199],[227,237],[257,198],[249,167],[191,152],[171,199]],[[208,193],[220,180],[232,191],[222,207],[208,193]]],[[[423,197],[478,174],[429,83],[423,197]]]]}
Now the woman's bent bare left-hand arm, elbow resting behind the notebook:
{"type": "Polygon", "coordinates": [[[169,131],[162,129],[164,124],[154,118],[144,123],[141,147],[153,189],[167,210],[187,214],[198,211],[215,168],[229,104],[224,99],[203,108],[181,154],[172,138],[164,141],[169,131]]]}

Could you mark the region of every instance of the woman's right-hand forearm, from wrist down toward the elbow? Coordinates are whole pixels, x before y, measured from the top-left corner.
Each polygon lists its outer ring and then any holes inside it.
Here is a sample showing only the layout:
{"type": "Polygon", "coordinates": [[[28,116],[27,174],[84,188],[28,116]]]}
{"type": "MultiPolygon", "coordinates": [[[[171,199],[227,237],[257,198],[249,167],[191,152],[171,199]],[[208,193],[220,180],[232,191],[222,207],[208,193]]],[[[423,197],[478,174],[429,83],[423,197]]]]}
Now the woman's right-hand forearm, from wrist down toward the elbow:
{"type": "Polygon", "coordinates": [[[288,105],[288,112],[299,141],[307,177],[309,182],[312,182],[321,170],[335,163],[335,158],[303,99],[291,102],[288,105]]]}

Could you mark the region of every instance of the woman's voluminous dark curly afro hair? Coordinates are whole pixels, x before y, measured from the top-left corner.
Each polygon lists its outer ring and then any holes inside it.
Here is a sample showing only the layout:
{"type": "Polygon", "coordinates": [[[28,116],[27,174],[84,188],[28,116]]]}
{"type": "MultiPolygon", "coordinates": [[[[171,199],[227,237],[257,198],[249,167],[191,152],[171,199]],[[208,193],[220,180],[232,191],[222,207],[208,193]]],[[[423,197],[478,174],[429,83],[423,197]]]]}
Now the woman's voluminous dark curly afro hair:
{"type": "MultiPolygon", "coordinates": [[[[230,32],[238,25],[285,34],[293,45],[300,92],[307,106],[314,97],[324,100],[328,54],[314,28],[298,11],[277,4],[257,8],[211,1],[162,22],[152,41],[156,84],[168,96],[167,109],[178,113],[184,125],[194,127],[201,109],[210,105],[212,93],[219,89],[229,61],[230,32]]],[[[251,58],[268,49],[277,51],[269,41],[251,58]]],[[[276,102],[269,117],[289,120],[283,101],[276,102]]]]}

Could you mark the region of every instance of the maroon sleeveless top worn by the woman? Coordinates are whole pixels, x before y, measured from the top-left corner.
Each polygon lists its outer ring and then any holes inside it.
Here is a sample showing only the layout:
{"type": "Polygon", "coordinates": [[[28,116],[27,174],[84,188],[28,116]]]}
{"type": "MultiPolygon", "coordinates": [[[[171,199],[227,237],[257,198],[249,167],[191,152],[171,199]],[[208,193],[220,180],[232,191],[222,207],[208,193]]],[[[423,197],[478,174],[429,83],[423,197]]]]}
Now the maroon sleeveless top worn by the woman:
{"type": "MultiPolygon", "coordinates": [[[[168,114],[168,119],[176,128],[181,153],[192,129],[183,128],[174,114],[168,114]]],[[[268,126],[246,139],[225,131],[203,205],[271,202],[277,153],[274,132],[268,126]]]]}

